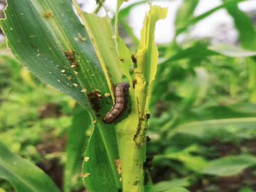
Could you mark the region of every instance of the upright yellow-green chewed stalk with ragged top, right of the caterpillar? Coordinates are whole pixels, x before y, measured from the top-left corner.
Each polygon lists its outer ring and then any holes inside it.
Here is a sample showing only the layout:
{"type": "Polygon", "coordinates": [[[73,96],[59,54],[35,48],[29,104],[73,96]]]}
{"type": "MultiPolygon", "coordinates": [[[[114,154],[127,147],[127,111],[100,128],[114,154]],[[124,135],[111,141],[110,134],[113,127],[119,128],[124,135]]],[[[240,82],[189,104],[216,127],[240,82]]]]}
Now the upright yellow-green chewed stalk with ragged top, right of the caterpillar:
{"type": "Polygon", "coordinates": [[[134,65],[134,82],[136,83],[134,86],[135,96],[132,97],[134,108],[131,113],[136,114],[137,131],[135,135],[130,134],[130,137],[127,138],[126,146],[129,146],[129,151],[126,150],[126,154],[119,154],[122,163],[123,191],[125,192],[144,191],[145,184],[143,162],[146,155],[147,108],[158,59],[158,51],[154,42],[155,24],[157,20],[165,18],[167,13],[167,9],[158,6],[150,8],[143,22],[141,41],[136,54],[137,63],[134,65]],[[123,156],[125,158],[122,158],[123,156]]]}

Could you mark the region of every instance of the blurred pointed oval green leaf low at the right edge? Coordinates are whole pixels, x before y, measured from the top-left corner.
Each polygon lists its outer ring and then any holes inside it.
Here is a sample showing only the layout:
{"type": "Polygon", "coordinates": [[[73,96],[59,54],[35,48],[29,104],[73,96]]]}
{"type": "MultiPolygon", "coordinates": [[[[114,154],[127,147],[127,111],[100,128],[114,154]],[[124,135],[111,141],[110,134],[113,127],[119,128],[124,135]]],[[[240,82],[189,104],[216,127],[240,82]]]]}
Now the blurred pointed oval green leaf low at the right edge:
{"type": "Polygon", "coordinates": [[[236,175],[245,168],[256,164],[256,157],[248,155],[228,156],[213,160],[200,172],[221,177],[236,175]]]}

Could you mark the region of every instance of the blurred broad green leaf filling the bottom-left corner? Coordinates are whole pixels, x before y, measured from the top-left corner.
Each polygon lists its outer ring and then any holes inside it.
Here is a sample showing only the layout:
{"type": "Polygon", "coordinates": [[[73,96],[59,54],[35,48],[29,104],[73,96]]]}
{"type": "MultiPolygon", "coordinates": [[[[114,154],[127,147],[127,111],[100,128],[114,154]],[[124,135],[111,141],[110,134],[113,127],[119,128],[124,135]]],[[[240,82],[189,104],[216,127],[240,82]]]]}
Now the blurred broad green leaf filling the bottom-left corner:
{"type": "Polygon", "coordinates": [[[41,169],[13,154],[0,142],[0,177],[7,179],[16,191],[59,191],[41,169]]]}

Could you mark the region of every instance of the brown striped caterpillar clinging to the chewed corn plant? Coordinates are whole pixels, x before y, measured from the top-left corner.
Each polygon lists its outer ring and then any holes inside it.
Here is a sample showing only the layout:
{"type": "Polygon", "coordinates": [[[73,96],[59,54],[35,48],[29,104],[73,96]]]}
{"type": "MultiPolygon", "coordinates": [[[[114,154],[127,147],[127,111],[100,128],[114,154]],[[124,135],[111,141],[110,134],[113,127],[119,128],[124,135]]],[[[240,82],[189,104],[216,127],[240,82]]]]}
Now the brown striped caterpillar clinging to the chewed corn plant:
{"type": "Polygon", "coordinates": [[[113,123],[125,111],[129,87],[130,85],[127,82],[120,82],[116,85],[114,91],[115,103],[111,110],[104,116],[104,123],[113,123]]]}

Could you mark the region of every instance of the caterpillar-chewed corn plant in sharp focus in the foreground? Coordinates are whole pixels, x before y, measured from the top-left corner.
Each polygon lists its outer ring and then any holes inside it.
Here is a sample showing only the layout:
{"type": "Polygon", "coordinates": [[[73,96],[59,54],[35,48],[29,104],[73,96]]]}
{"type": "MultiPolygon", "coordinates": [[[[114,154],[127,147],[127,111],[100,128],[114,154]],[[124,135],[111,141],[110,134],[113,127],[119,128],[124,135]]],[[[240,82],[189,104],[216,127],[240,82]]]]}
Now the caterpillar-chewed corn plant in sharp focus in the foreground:
{"type": "MultiPolygon", "coordinates": [[[[69,0],[9,0],[6,18],[1,20],[8,47],[20,63],[84,108],[77,112],[76,129],[69,135],[64,190],[70,191],[78,179],[74,173],[84,144],[82,135],[92,126],[82,163],[86,188],[152,191],[150,175],[143,166],[147,109],[157,70],[155,24],[165,18],[167,9],[150,5],[137,53],[131,57],[118,34],[118,10],[123,0],[117,1],[114,26],[108,16],[83,12],[75,0],[72,2],[78,16],[69,0]],[[127,109],[114,123],[106,124],[102,118],[115,100],[115,86],[122,81],[130,84],[127,109]]],[[[4,146],[1,157],[0,176],[17,191],[59,190],[40,169],[4,146]]]]}

